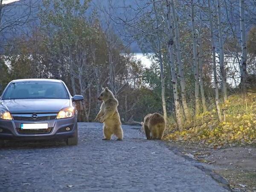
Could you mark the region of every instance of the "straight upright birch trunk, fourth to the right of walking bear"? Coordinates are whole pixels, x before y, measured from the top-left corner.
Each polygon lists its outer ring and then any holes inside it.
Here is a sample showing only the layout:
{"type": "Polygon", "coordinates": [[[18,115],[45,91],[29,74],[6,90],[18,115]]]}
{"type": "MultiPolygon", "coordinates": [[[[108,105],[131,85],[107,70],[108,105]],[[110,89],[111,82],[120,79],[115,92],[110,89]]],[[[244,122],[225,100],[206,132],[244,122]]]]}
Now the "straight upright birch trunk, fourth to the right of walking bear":
{"type": "Polygon", "coordinates": [[[198,58],[196,49],[196,34],[195,34],[195,9],[194,0],[191,0],[191,24],[192,24],[192,38],[193,38],[193,64],[194,64],[194,77],[195,77],[195,115],[200,111],[199,104],[199,76],[198,76],[198,58]]]}

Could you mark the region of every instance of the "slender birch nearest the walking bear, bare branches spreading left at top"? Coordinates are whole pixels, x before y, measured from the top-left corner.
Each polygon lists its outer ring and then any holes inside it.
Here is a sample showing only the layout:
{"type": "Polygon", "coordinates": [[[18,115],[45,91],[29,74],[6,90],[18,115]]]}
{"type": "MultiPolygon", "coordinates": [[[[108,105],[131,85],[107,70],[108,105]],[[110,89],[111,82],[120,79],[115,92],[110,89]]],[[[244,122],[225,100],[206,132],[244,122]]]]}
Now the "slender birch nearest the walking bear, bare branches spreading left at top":
{"type": "MultiPolygon", "coordinates": [[[[109,1],[111,2],[111,0],[109,1]]],[[[125,2],[124,2],[125,3],[125,2]]],[[[160,79],[161,79],[161,101],[163,108],[163,116],[167,122],[167,109],[166,109],[166,96],[165,96],[165,76],[164,76],[164,65],[163,65],[163,55],[162,55],[162,42],[161,35],[163,35],[163,22],[160,22],[160,15],[157,9],[157,1],[151,1],[153,6],[149,6],[148,3],[145,5],[138,6],[138,11],[135,17],[129,18],[129,16],[124,15],[125,19],[121,17],[117,17],[116,19],[122,22],[122,26],[127,27],[126,32],[131,32],[127,36],[132,39],[135,39],[137,42],[139,41],[147,41],[148,44],[145,47],[144,44],[140,46],[141,49],[151,49],[154,52],[157,62],[160,67],[160,79]],[[147,9],[147,8],[151,9],[147,9]],[[153,9],[152,9],[153,8],[153,9]],[[153,17],[152,17],[153,14],[153,17]],[[150,20],[150,22],[148,22],[150,20]]],[[[126,6],[124,6],[126,7],[126,6]]],[[[132,7],[127,6],[125,12],[134,10],[132,7]]],[[[112,15],[112,17],[114,17],[112,15]]],[[[114,20],[114,19],[113,19],[114,20]]],[[[120,23],[116,23],[120,24],[120,23]]]]}

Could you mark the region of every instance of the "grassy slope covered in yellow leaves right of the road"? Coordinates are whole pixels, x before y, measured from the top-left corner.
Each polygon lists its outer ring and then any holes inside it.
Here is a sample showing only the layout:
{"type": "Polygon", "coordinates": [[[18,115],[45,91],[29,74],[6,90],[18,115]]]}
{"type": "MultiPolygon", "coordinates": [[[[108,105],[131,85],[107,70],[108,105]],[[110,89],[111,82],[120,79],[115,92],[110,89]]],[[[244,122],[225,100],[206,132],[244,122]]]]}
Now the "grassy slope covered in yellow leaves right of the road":
{"type": "Polygon", "coordinates": [[[177,131],[171,120],[165,140],[203,143],[214,147],[225,144],[256,143],[256,93],[248,93],[246,100],[240,95],[229,96],[225,108],[225,121],[218,122],[215,109],[201,113],[184,123],[177,131]]]}

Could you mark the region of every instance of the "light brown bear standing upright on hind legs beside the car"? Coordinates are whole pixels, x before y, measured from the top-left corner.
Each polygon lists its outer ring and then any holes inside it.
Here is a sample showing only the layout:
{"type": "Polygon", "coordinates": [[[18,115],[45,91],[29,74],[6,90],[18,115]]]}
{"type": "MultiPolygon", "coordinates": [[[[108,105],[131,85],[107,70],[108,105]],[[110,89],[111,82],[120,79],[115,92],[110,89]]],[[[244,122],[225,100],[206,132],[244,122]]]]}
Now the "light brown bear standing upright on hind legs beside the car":
{"type": "Polygon", "coordinates": [[[103,134],[105,138],[103,140],[110,140],[113,134],[116,135],[118,140],[122,140],[123,131],[120,116],[117,111],[117,99],[108,87],[102,88],[102,93],[98,99],[103,102],[95,120],[99,120],[99,122],[104,123],[103,134]]]}

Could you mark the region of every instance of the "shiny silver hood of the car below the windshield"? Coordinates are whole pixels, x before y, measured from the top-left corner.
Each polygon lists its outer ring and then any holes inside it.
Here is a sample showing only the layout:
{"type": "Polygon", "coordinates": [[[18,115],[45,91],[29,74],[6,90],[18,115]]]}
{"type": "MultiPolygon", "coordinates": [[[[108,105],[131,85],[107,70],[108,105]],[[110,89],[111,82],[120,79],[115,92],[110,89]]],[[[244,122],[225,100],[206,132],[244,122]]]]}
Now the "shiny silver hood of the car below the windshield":
{"type": "Polygon", "coordinates": [[[69,107],[69,99],[10,99],[1,100],[0,108],[11,113],[58,113],[69,107]]]}

